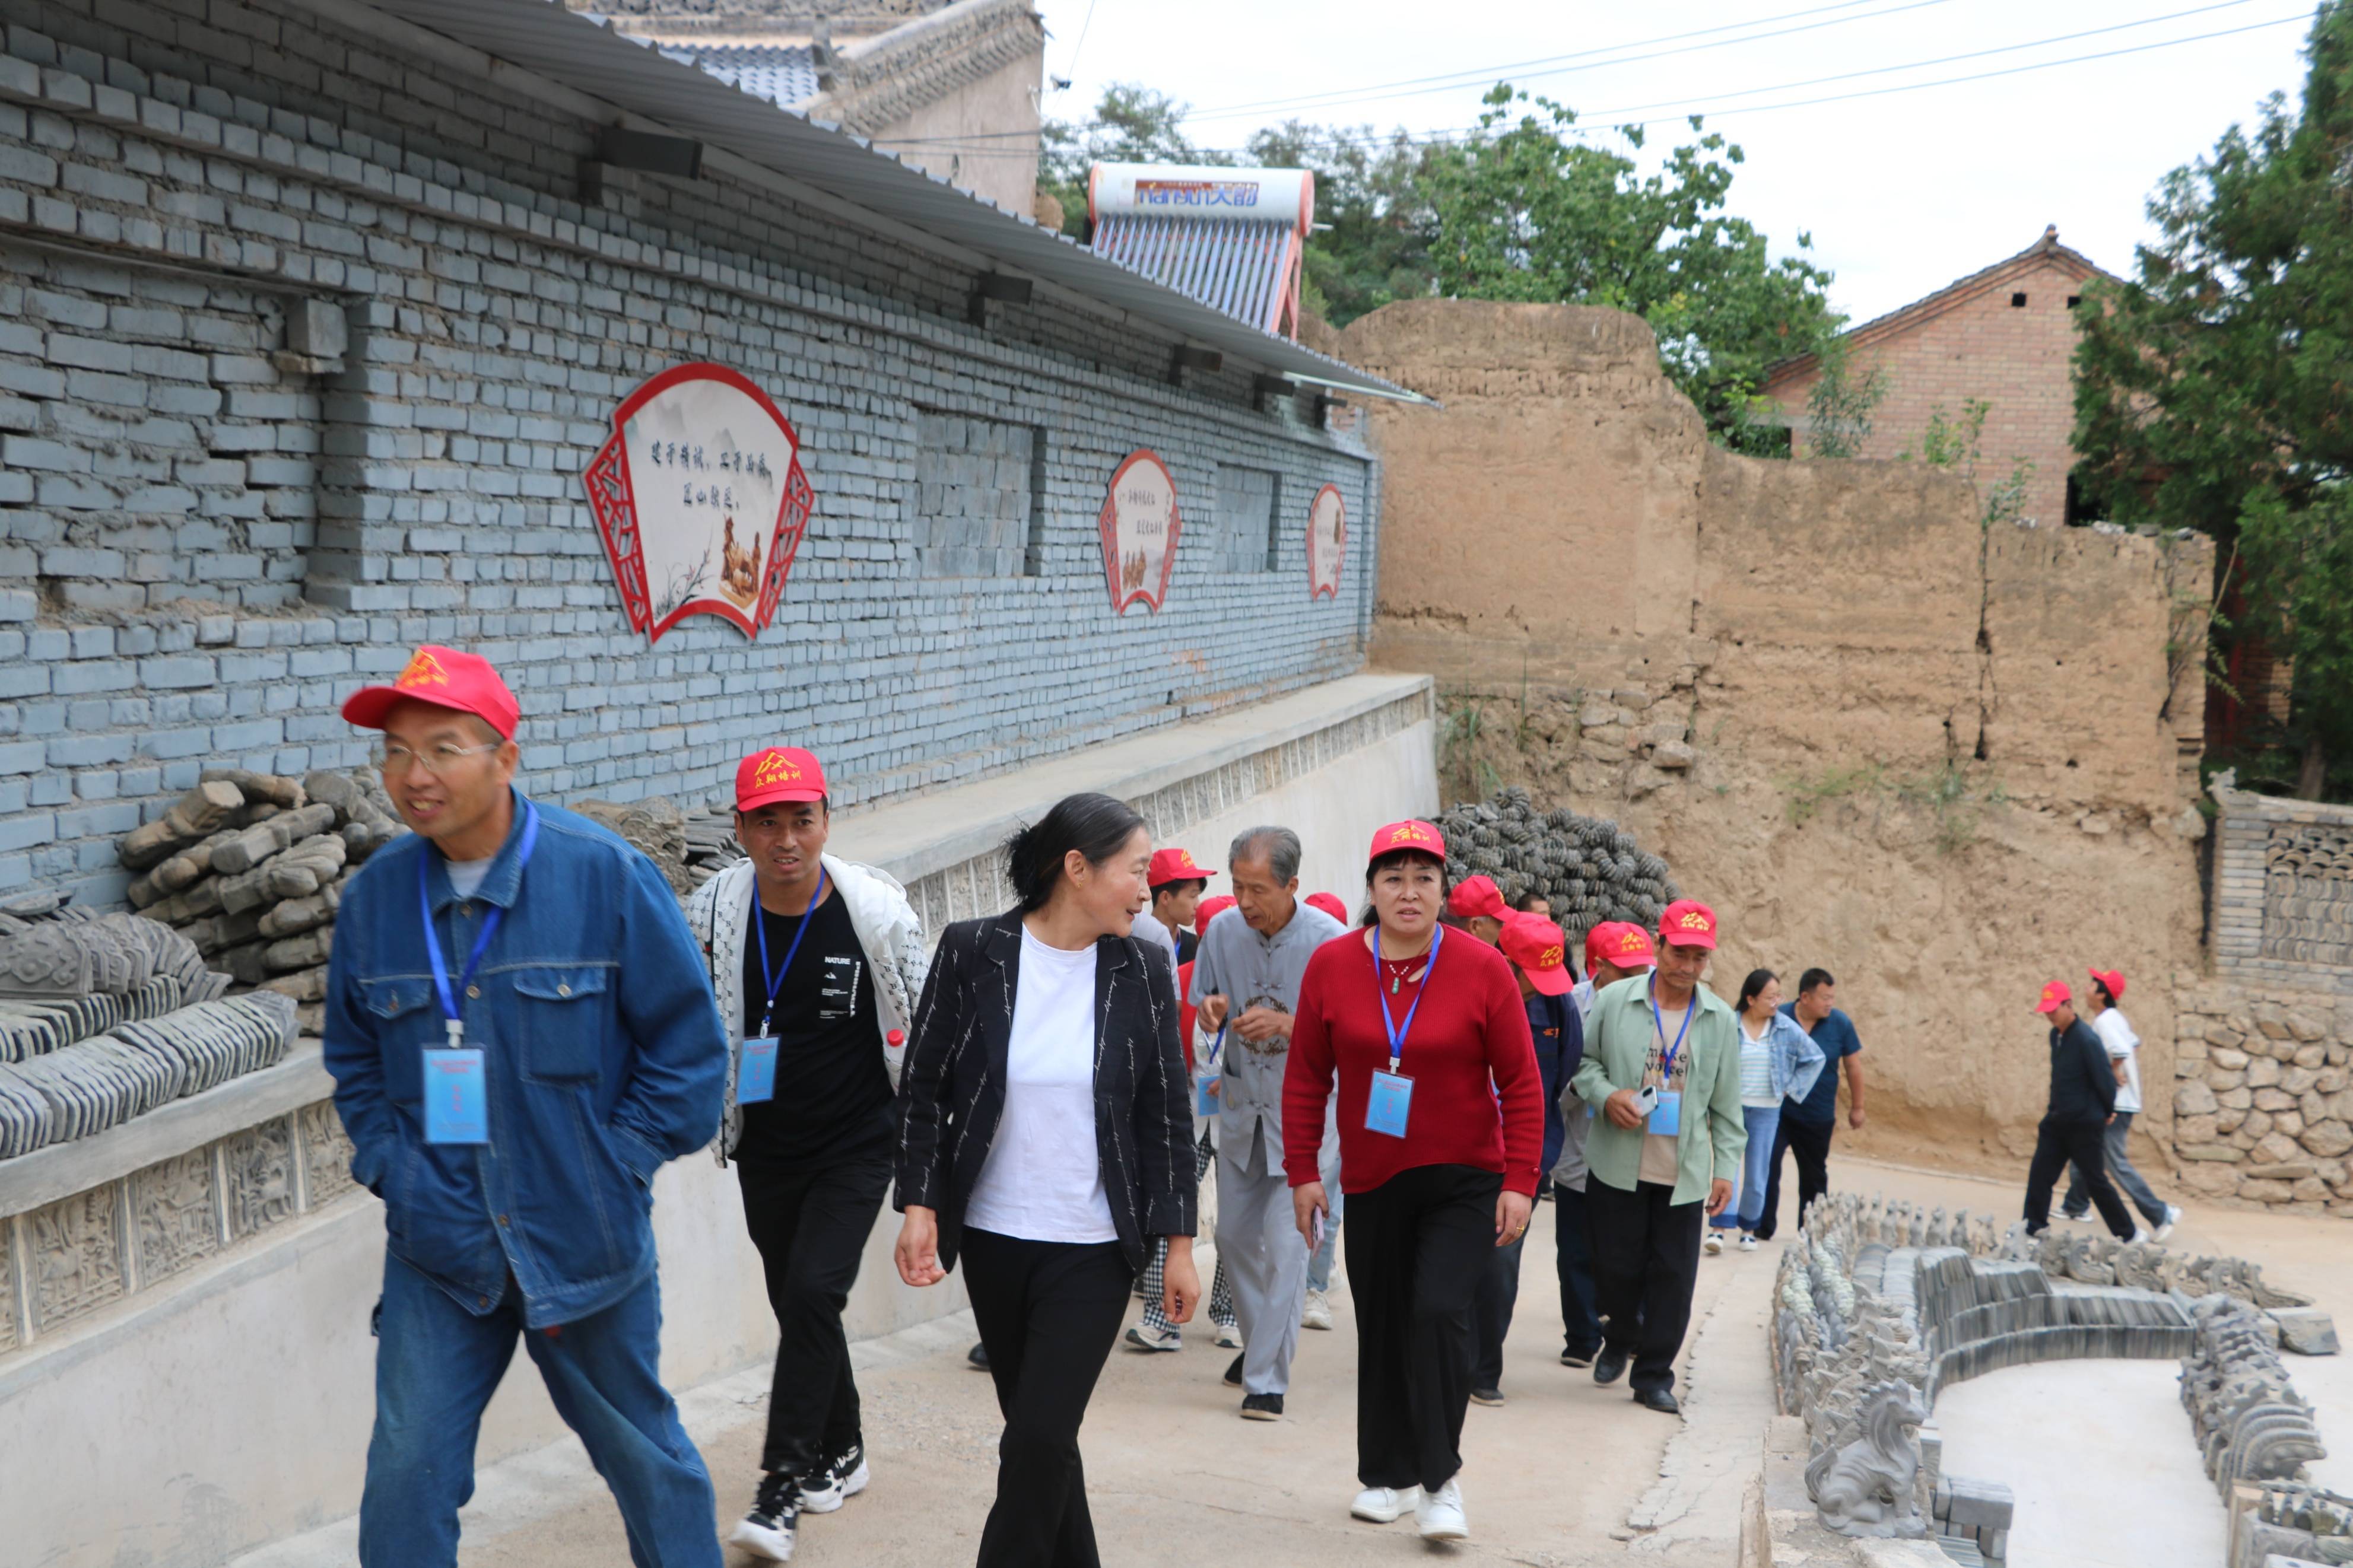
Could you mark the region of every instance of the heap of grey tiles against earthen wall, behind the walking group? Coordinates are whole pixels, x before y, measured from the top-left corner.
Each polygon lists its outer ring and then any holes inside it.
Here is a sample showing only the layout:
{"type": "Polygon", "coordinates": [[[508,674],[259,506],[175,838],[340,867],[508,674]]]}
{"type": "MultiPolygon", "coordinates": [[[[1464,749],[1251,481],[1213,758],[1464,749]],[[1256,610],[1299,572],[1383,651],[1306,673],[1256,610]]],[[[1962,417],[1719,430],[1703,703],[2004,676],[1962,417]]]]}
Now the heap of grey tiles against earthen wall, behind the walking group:
{"type": "Polygon", "coordinates": [[[1539,811],[1518,785],[1440,813],[1438,830],[1447,837],[1447,877],[1485,872],[1506,900],[1544,893],[1569,940],[1605,919],[1657,926],[1659,910],[1682,896],[1666,860],[1642,853],[1631,832],[1567,809],[1539,811]]]}

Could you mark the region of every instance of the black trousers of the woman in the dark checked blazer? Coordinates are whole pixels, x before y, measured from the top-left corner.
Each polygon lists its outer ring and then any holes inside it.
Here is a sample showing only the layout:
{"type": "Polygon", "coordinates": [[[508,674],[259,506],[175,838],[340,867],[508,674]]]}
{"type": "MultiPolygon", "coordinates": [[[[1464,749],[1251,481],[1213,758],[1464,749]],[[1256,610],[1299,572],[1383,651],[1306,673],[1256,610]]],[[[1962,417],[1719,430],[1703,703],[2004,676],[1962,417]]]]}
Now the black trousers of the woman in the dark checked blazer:
{"type": "Polygon", "coordinates": [[[965,1291],[1005,1436],[979,1568],[1099,1568],[1078,1425],[1127,1321],[1136,1274],[1118,1241],[965,1229],[965,1291]]]}

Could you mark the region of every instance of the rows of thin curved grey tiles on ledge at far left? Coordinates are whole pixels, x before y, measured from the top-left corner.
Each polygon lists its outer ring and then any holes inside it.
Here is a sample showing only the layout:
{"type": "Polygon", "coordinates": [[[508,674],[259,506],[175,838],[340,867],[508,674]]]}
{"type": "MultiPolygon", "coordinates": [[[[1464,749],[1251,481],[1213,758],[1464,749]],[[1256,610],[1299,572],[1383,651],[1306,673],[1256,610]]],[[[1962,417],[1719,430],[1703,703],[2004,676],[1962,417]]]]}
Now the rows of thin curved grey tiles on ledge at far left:
{"type": "Polygon", "coordinates": [[[226,985],[195,943],[136,914],[0,917],[0,1159],[282,1060],[294,999],[226,985]]]}

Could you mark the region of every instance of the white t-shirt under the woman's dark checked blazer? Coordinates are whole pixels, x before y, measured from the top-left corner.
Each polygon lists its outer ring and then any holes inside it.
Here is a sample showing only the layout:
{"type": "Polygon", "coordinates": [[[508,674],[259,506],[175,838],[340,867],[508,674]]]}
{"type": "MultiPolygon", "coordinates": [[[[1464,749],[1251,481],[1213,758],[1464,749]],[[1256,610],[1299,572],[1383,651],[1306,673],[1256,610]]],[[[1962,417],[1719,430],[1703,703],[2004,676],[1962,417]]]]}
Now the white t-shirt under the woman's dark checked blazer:
{"type": "Polygon", "coordinates": [[[1021,926],[1005,1114],[965,1225],[1024,1241],[1118,1241],[1094,1145],[1094,943],[1047,947],[1021,926]]]}

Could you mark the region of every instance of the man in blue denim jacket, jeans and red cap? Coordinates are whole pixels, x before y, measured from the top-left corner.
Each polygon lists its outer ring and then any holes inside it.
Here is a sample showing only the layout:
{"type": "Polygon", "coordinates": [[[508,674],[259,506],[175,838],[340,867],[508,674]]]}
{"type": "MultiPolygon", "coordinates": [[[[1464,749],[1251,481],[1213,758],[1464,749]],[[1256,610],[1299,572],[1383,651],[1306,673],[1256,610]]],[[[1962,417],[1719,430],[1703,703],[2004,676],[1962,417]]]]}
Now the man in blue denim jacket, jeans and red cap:
{"type": "Polygon", "coordinates": [[[656,1373],[654,1171],[711,1143],[727,1074],[678,900],[513,788],[518,708],[487,661],[421,646],[344,717],[384,731],[416,830],[344,891],[327,973],[334,1107],[386,1229],[360,1563],[456,1563],[520,1335],[638,1568],[718,1568],[711,1476],[656,1373]]]}

